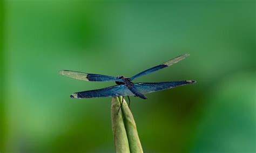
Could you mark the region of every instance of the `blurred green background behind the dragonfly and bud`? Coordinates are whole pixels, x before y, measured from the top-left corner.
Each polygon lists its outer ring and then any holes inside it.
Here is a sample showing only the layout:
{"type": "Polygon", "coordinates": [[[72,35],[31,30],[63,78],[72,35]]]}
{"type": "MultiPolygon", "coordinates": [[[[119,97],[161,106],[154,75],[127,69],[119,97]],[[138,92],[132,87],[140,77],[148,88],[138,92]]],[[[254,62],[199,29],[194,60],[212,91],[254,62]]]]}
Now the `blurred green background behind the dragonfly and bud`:
{"type": "MultiPolygon", "coordinates": [[[[114,85],[61,69],[196,84],[131,98],[144,152],[256,152],[255,1],[1,1],[0,152],[114,152],[114,85]]],[[[135,82],[136,82],[135,81],[135,82]]]]}

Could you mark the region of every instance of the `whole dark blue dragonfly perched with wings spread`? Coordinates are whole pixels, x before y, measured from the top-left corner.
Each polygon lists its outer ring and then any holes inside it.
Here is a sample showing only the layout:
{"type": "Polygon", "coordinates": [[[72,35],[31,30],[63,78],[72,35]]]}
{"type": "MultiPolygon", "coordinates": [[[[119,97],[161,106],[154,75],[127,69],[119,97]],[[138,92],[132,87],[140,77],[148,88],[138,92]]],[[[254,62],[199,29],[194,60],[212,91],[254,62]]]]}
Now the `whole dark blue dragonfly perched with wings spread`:
{"type": "Polygon", "coordinates": [[[145,94],[163,91],[165,89],[174,88],[177,86],[189,85],[193,84],[196,81],[194,80],[181,80],[181,81],[168,81],[168,82],[139,82],[133,83],[134,79],[142,77],[143,75],[158,71],[159,69],[169,67],[173,64],[176,64],[180,60],[185,59],[190,54],[180,55],[174,59],[164,62],[163,64],[151,67],[146,69],[143,72],[140,72],[134,75],[131,78],[126,78],[123,75],[118,77],[111,77],[108,75],[102,74],[92,74],[92,73],[84,73],[77,71],[69,71],[62,70],[59,73],[65,75],[66,77],[70,77],[73,79],[83,80],[83,81],[114,81],[116,82],[116,86],[110,86],[102,89],[95,89],[90,91],[77,92],[70,95],[70,98],[99,98],[99,97],[113,97],[113,96],[136,96],[138,98],[147,99],[145,94]]]}

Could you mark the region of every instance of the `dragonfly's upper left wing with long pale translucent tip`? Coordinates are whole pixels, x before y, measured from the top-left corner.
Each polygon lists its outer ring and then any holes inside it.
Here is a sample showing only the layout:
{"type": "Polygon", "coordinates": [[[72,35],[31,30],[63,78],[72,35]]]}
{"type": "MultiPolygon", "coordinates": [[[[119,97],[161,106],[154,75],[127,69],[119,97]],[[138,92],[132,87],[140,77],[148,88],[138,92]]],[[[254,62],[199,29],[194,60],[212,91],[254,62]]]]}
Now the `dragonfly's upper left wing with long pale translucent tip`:
{"type": "Polygon", "coordinates": [[[66,77],[84,80],[84,81],[119,81],[123,82],[123,79],[117,79],[115,77],[101,75],[101,74],[92,74],[92,73],[83,73],[77,71],[69,71],[69,70],[62,70],[59,74],[65,75],[66,77]]]}

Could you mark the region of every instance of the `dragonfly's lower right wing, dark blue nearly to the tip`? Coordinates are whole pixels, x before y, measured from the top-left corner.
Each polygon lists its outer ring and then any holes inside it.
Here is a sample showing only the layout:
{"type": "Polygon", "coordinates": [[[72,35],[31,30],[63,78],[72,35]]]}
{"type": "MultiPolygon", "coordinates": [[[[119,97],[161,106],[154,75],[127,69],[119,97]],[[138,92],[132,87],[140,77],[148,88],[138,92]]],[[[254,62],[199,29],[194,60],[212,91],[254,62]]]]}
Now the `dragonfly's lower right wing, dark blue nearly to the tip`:
{"type": "Polygon", "coordinates": [[[164,89],[170,89],[177,86],[183,86],[193,84],[196,81],[183,80],[183,81],[170,81],[170,82],[152,82],[152,83],[137,83],[134,84],[134,88],[142,94],[152,93],[156,91],[163,91],[164,89]]]}

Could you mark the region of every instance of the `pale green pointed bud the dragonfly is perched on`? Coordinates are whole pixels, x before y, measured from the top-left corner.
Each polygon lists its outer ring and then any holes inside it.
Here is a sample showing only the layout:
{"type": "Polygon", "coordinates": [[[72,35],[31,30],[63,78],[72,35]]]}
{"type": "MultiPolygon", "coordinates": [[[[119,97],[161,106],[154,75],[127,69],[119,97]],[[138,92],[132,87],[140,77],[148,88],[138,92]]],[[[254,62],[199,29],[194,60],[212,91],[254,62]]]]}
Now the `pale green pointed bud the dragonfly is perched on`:
{"type": "Polygon", "coordinates": [[[112,98],[111,119],[116,152],[143,152],[131,110],[124,100],[118,113],[120,103],[122,96],[112,98]]]}

